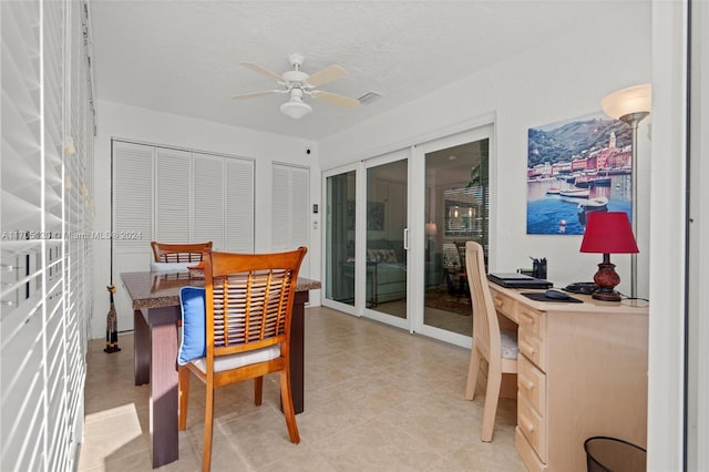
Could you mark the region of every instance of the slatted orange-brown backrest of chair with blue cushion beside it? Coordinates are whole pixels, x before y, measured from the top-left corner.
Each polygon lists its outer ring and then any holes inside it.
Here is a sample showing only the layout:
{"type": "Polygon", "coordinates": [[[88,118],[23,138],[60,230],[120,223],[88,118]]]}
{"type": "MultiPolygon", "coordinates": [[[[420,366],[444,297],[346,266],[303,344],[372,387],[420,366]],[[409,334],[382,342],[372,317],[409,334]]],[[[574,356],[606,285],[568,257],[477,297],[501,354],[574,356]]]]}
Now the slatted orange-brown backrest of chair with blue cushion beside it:
{"type": "Polygon", "coordinates": [[[215,356],[260,349],[290,339],[300,263],[307,248],[289,253],[207,253],[205,287],[207,365],[215,356]]]}

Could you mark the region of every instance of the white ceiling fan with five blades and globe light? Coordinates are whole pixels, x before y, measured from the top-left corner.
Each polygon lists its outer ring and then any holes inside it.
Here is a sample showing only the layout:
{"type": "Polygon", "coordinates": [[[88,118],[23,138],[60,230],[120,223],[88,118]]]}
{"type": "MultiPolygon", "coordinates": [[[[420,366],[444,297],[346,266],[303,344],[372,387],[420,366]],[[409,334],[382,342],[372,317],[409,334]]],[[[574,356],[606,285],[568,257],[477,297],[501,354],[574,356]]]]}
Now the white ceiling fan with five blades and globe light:
{"type": "Polygon", "coordinates": [[[282,85],[284,89],[261,90],[259,92],[245,93],[243,95],[233,95],[232,99],[240,100],[270,95],[273,93],[288,93],[290,94],[290,100],[280,105],[280,112],[296,120],[312,111],[312,107],[308,103],[304,102],[302,98],[305,95],[309,95],[325,102],[330,102],[339,106],[345,106],[347,109],[359,106],[360,103],[357,99],[317,90],[320,85],[325,85],[326,83],[342,79],[347,75],[347,71],[341,66],[329,65],[310,75],[300,70],[305,61],[305,58],[301,54],[290,54],[288,60],[290,61],[290,65],[292,65],[292,70],[284,72],[282,75],[278,75],[267,69],[264,69],[254,62],[242,62],[242,65],[275,80],[276,83],[282,85]]]}

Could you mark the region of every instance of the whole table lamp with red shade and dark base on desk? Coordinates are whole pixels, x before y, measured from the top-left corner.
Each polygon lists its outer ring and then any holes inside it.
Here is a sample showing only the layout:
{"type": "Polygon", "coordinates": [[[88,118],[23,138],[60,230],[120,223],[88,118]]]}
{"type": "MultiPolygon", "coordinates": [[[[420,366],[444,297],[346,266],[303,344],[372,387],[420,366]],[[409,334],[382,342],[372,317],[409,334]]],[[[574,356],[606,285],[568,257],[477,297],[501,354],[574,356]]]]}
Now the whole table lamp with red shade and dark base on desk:
{"type": "Polygon", "coordinates": [[[603,263],[598,264],[598,271],[594,276],[598,290],[594,293],[593,298],[620,301],[620,294],[615,290],[615,287],[620,284],[620,277],[615,270],[615,264],[610,264],[610,255],[638,253],[628,214],[625,212],[590,213],[579,250],[603,254],[603,263]]]}

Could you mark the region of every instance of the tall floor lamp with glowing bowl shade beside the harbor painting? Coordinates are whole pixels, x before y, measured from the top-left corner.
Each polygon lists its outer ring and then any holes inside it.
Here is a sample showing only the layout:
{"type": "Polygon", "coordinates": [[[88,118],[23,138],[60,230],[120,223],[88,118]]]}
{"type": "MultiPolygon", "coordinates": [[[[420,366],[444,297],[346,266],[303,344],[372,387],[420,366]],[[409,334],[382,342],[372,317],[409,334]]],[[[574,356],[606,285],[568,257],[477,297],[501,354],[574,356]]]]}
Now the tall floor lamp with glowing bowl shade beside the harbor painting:
{"type": "MultiPolygon", "coordinates": [[[[637,216],[637,197],[638,197],[638,123],[640,123],[651,110],[651,94],[653,90],[649,83],[641,85],[634,85],[627,89],[618,90],[609,95],[606,95],[600,101],[603,111],[610,117],[621,120],[630,125],[633,137],[633,177],[631,177],[631,198],[630,213],[631,213],[631,226],[633,234],[637,238],[638,234],[638,216],[637,216]]],[[[630,255],[630,298],[637,298],[637,273],[638,273],[638,258],[637,254],[630,255]]]]}

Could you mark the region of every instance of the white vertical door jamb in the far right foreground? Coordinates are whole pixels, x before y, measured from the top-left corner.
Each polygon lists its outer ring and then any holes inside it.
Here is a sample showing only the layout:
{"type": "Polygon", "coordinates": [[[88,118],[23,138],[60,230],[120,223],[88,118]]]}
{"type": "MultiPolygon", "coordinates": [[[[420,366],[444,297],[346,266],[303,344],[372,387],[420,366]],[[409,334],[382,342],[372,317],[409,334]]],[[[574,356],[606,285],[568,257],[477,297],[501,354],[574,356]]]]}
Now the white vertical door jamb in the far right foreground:
{"type": "MultiPolygon", "coordinates": [[[[654,1],[653,154],[657,158],[651,175],[653,300],[649,329],[647,470],[658,472],[706,471],[687,468],[682,458],[687,302],[685,274],[688,263],[685,256],[688,28],[686,19],[686,0],[654,1]]],[[[692,172],[699,170],[693,168],[692,172]]],[[[693,192],[698,189],[695,188],[693,192]]],[[[699,213],[695,216],[699,216],[699,213]]],[[[693,264],[696,260],[690,261],[690,265],[693,264]]],[[[705,287],[701,289],[706,290],[705,287]]],[[[706,307],[702,308],[706,311],[706,307]]],[[[695,326],[692,329],[696,330],[698,327],[695,326]]],[[[701,335],[698,332],[697,336],[701,335]]],[[[706,391],[698,407],[707,407],[706,391]]],[[[706,443],[702,444],[702,449],[706,447],[706,443]]]]}

